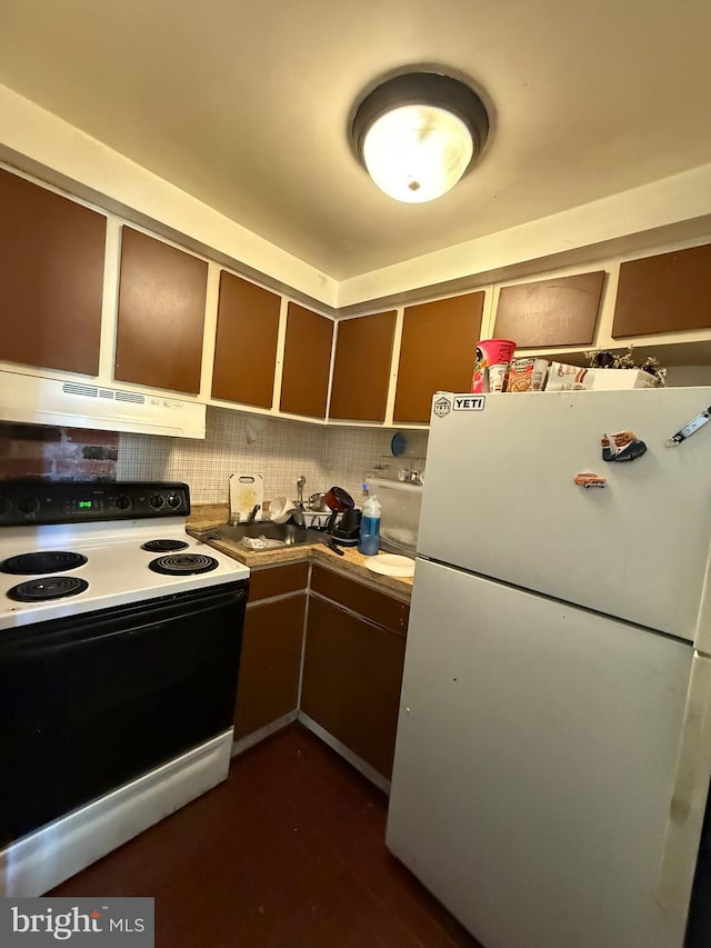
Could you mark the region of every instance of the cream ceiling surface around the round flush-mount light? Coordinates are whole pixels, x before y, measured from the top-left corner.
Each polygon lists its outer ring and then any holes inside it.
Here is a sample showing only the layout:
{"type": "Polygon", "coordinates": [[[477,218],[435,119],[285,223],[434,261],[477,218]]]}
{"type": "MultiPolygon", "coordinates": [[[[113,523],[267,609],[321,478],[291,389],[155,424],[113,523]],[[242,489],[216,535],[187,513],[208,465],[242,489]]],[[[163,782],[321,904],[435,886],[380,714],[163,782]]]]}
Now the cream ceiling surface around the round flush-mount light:
{"type": "Polygon", "coordinates": [[[342,280],[707,163],[710,40],[709,0],[0,0],[0,82],[342,280]],[[492,124],[427,204],[347,136],[410,64],[492,124]]]}

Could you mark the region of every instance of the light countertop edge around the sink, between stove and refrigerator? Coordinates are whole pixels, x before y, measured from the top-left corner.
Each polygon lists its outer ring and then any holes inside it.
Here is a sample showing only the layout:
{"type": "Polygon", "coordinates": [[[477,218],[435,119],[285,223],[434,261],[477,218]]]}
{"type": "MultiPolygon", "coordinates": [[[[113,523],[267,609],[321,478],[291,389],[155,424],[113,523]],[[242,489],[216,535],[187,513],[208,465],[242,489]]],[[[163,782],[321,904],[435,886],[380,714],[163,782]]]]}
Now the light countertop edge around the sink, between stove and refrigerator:
{"type": "MultiPolygon", "coordinates": [[[[200,538],[200,533],[203,531],[224,525],[228,520],[229,508],[227,503],[196,505],[188,518],[187,530],[192,536],[200,538]]],[[[311,560],[339,570],[353,579],[365,581],[373,587],[380,587],[383,591],[390,590],[400,597],[409,599],[412,592],[412,578],[401,579],[400,577],[373,572],[363,565],[367,557],[359,553],[356,547],[341,547],[343,556],[339,557],[324,543],[304,543],[303,546],[279,547],[272,550],[243,550],[229,540],[210,539],[206,542],[239,560],[239,562],[243,562],[250,569],[311,560]]]]}

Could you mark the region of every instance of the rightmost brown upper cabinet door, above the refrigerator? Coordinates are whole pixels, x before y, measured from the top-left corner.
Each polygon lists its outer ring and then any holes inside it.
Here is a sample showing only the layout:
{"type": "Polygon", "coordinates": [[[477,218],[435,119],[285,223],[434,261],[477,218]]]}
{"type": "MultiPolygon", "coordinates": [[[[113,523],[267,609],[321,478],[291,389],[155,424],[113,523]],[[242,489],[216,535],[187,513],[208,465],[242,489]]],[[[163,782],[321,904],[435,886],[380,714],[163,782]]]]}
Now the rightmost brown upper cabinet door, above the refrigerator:
{"type": "Polygon", "coordinates": [[[711,243],[620,266],[612,336],[711,328],[711,243]]]}

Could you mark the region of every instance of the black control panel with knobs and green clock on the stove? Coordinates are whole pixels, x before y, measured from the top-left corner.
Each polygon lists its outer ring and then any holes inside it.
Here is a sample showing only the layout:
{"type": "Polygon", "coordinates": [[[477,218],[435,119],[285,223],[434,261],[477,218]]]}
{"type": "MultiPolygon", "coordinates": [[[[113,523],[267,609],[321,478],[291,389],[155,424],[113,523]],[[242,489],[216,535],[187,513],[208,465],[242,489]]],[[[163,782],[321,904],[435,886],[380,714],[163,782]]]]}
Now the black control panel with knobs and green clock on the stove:
{"type": "Polygon", "coordinates": [[[190,488],[166,481],[0,481],[0,526],[187,517],[190,488]]]}

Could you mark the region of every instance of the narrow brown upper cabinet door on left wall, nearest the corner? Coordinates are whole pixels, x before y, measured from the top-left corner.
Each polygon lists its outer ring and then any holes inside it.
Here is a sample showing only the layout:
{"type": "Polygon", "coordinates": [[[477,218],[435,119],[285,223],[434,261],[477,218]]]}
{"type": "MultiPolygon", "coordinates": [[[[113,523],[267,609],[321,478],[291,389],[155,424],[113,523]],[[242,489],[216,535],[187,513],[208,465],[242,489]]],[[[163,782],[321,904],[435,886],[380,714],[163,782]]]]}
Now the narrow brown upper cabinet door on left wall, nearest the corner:
{"type": "Polygon", "coordinates": [[[281,411],[326,418],[332,341],[332,320],[297,303],[289,303],[281,411]]]}

